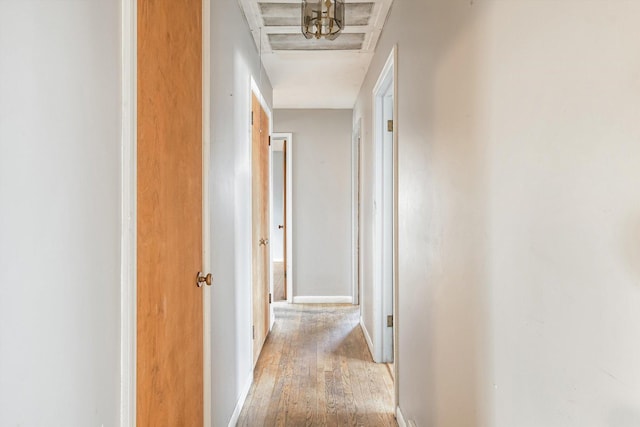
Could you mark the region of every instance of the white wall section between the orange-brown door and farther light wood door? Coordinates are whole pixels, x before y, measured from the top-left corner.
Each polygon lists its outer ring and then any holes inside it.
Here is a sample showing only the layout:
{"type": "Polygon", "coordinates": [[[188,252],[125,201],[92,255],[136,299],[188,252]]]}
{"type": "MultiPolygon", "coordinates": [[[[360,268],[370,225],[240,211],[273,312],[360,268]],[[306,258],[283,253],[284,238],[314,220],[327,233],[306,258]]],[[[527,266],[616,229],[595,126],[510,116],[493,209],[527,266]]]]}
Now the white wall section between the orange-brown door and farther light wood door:
{"type": "Polygon", "coordinates": [[[211,2],[211,266],[213,425],[229,424],[253,378],[251,341],[251,76],[271,84],[236,0],[211,2]]]}

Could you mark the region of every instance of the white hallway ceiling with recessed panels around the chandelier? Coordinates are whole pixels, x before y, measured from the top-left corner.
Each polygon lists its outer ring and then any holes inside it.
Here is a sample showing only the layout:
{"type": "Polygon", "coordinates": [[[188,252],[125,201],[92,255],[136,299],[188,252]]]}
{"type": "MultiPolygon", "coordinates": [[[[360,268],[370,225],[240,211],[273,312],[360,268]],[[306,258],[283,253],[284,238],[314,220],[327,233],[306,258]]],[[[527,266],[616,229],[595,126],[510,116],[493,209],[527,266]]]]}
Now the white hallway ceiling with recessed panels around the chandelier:
{"type": "Polygon", "coordinates": [[[336,40],[307,40],[300,0],[239,0],[273,85],[274,108],[353,108],[393,0],[345,0],[336,40]]]}

